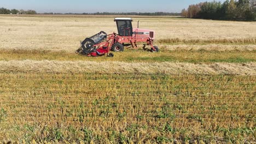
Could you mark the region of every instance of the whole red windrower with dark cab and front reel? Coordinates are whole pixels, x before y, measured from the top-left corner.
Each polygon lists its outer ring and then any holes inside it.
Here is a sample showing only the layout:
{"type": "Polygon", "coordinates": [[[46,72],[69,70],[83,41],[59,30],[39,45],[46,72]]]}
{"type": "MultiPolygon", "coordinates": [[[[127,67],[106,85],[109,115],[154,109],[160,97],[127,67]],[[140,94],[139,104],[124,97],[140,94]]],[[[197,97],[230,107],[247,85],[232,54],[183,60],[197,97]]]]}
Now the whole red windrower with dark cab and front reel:
{"type": "MultiPolygon", "coordinates": [[[[113,57],[109,51],[124,51],[124,43],[130,43],[132,48],[137,48],[138,42],[144,42],[150,46],[152,52],[158,52],[159,48],[153,45],[155,32],[150,29],[132,28],[131,18],[115,18],[118,34],[107,34],[103,31],[86,38],[81,43],[80,53],[86,56],[107,56],[113,57]]],[[[139,21],[138,21],[139,25],[139,21]]]]}

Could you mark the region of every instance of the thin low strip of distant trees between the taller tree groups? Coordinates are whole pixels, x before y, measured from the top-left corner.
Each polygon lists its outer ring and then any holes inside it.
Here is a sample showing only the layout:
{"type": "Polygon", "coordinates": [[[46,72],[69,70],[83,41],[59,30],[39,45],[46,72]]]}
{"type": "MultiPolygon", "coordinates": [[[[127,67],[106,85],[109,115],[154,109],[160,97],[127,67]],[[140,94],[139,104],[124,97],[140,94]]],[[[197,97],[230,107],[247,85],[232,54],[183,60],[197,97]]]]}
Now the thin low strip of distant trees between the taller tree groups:
{"type": "Polygon", "coordinates": [[[156,13],[108,13],[108,12],[97,12],[97,13],[42,13],[45,15],[142,15],[142,16],[181,16],[181,13],[164,13],[164,12],[156,12],[156,13]]]}

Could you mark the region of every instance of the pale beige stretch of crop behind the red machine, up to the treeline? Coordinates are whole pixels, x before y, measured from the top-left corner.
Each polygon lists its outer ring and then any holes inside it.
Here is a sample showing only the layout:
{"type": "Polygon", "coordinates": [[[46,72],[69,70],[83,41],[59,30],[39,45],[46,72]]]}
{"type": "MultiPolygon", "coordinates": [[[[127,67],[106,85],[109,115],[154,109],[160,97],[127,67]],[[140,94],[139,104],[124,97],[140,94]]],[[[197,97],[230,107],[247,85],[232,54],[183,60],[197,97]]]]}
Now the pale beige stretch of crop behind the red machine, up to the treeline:
{"type": "MultiPolygon", "coordinates": [[[[79,41],[86,37],[100,31],[117,32],[114,17],[1,16],[0,49],[74,52],[79,47],[79,41]]],[[[140,27],[155,30],[156,41],[159,41],[156,44],[249,43],[255,49],[255,22],[175,17],[139,17],[135,18],[137,20],[141,21],[140,27]]]]}

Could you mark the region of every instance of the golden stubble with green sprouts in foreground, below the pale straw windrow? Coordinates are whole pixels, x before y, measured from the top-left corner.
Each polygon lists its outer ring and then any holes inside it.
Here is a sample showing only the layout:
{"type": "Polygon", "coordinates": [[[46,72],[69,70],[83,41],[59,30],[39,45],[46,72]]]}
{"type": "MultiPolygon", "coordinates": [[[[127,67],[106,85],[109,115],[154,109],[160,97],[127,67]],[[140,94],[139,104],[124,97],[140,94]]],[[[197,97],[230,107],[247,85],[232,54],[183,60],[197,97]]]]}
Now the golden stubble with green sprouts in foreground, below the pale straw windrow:
{"type": "Polygon", "coordinates": [[[0,74],[0,139],[254,143],[255,76],[0,74]]]}

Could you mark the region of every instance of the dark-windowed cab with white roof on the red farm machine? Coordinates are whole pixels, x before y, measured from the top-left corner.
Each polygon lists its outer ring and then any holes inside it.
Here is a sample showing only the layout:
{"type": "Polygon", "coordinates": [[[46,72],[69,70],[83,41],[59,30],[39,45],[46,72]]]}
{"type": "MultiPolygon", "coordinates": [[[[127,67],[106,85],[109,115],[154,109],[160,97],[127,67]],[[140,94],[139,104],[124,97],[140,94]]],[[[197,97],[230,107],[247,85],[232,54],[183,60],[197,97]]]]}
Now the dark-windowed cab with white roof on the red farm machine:
{"type": "Polygon", "coordinates": [[[118,17],[114,20],[117,22],[118,34],[120,36],[132,36],[132,19],[118,17]]]}

